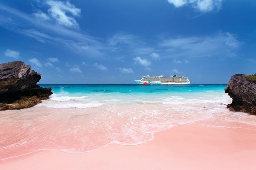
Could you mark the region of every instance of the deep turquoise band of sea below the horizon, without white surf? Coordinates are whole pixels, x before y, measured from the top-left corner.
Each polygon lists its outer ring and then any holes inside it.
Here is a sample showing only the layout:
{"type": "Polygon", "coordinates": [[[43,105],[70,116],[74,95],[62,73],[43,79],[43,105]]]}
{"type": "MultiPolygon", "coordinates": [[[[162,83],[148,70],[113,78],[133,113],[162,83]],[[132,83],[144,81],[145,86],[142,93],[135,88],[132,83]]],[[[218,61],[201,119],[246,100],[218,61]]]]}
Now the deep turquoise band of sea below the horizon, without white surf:
{"type": "Polygon", "coordinates": [[[51,87],[53,93],[196,93],[223,92],[226,84],[137,85],[137,84],[39,84],[51,87]]]}

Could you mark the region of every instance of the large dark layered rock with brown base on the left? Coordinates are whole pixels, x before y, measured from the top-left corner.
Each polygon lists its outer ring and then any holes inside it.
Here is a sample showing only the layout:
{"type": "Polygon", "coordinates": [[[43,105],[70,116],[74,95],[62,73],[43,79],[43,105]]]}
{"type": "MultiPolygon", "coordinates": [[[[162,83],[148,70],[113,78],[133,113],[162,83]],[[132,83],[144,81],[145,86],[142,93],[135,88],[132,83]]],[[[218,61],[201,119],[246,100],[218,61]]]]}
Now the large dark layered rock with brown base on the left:
{"type": "Polygon", "coordinates": [[[0,110],[29,108],[49,99],[52,89],[38,86],[40,79],[22,61],[0,64],[0,110]]]}

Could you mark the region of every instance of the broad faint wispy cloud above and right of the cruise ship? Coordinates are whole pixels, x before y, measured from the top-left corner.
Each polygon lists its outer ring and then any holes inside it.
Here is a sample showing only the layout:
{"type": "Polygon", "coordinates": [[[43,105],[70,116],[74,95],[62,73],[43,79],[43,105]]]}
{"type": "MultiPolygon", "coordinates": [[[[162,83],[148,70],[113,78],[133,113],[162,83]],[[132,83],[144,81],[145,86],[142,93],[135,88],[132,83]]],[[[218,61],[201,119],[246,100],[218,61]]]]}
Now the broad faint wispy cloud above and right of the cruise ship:
{"type": "Polygon", "coordinates": [[[163,39],[159,46],[162,58],[235,57],[241,44],[234,34],[219,32],[206,37],[163,39]]]}

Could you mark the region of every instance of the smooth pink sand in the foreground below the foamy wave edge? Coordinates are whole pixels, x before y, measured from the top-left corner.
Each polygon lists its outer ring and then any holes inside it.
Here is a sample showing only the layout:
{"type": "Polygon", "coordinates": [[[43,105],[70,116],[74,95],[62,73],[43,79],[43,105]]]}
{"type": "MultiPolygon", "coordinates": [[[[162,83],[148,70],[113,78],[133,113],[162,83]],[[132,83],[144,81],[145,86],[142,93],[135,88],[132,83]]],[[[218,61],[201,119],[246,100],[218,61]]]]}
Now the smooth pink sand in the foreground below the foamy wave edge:
{"type": "Polygon", "coordinates": [[[0,169],[255,169],[255,153],[254,125],[186,124],[156,132],[139,145],[108,144],[77,154],[43,151],[2,162],[0,169]]]}

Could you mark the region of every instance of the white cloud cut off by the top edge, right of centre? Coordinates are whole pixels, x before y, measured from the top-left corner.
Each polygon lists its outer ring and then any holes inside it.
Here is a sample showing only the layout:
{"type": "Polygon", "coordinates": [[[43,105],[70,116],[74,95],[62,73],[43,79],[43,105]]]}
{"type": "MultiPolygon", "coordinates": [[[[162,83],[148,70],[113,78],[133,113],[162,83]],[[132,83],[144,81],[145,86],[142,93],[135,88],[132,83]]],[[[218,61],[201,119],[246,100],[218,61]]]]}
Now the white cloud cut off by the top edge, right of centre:
{"type": "Polygon", "coordinates": [[[181,7],[184,5],[191,5],[202,12],[209,12],[214,9],[220,9],[223,0],[168,0],[169,3],[175,7],[181,7]]]}

